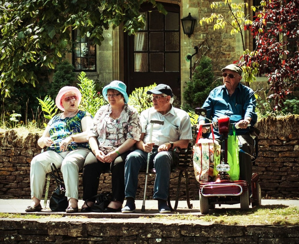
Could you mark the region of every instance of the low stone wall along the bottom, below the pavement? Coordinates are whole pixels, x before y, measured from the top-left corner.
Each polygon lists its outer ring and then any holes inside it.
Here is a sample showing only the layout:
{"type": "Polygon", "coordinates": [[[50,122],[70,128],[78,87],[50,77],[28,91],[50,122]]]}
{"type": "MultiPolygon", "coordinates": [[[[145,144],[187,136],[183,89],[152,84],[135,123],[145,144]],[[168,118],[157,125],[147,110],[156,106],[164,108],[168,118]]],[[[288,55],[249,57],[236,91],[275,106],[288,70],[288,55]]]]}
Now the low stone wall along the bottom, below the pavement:
{"type": "Polygon", "coordinates": [[[196,220],[2,219],[9,243],[299,243],[298,226],[222,225],[196,220]]]}

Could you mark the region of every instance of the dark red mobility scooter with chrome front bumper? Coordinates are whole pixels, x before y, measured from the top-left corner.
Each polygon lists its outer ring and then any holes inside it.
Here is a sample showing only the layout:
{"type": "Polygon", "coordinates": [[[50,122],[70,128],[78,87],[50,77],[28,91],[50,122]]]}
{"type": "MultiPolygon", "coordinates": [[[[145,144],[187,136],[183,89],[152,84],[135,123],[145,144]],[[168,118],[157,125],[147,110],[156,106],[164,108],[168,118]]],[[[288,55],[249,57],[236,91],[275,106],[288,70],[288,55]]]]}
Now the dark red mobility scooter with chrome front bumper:
{"type": "MultiPolygon", "coordinates": [[[[206,110],[203,108],[196,108],[196,113],[199,116],[206,118],[206,110]]],[[[218,127],[219,134],[221,136],[222,148],[221,154],[222,159],[220,163],[216,165],[217,171],[219,174],[213,179],[211,182],[200,183],[199,189],[199,202],[200,202],[200,211],[202,214],[208,214],[209,209],[214,209],[215,205],[218,204],[240,204],[241,211],[246,211],[249,209],[249,205],[251,206],[260,206],[261,205],[261,189],[260,185],[257,182],[259,179],[258,174],[252,174],[251,178],[251,192],[252,196],[249,195],[249,185],[245,180],[236,180],[231,181],[228,171],[230,170],[230,166],[227,161],[227,140],[228,134],[230,131],[230,126],[235,126],[234,124],[230,124],[229,118],[218,118],[217,122],[207,123],[202,125],[203,127],[218,127]]],[[[254,138],[254,155],[251,160],[254,164],[254,161],[257,159],[258,154],[258,139],[259,130],[254,129],[255,138],[254,138]]]]}

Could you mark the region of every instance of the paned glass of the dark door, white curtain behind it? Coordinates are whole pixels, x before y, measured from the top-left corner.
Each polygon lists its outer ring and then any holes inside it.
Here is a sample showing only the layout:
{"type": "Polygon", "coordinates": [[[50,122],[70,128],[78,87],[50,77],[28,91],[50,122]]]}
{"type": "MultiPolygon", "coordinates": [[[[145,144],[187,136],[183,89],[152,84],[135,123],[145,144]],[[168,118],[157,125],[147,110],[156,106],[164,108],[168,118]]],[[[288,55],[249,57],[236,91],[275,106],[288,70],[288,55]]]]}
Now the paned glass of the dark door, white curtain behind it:
{"type": "Polygon", "coordinates": [[[145,27],[134,37],[134,72],[179,71],[179,13],[143,13],[145,27]]]}

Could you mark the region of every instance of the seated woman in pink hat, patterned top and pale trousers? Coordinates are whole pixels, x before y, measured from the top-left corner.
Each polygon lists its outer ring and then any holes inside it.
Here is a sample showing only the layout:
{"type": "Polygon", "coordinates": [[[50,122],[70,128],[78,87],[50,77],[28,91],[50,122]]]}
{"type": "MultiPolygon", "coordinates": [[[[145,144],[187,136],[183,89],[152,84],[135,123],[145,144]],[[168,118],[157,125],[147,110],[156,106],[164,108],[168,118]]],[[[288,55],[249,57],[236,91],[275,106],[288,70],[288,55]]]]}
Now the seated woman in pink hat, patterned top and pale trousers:
{"type": "Polygon", "coordinates": [[[46,173],[51,172],[51,162],[61,172],[68,197],[67,213],[78,212],[79,170],[83,168],[90,152],[87,131],[92,125],[89,113],[80,111],[80,90],[65,86],[56,97],[56,106],[62,113],[54,116],[37,143],[45,151],[35,156],[30,165],[30,188],[32,203],[26,212],[41,211],[40,200],[45,186],[46,173]]]}

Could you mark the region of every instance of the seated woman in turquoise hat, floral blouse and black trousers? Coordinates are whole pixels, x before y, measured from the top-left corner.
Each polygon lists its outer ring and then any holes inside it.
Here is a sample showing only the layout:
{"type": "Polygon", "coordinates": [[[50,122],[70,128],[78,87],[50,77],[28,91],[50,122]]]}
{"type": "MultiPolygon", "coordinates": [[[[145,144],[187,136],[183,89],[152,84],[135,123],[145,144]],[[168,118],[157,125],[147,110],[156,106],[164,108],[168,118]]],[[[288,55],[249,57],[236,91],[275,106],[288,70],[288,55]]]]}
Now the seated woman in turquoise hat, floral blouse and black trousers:
{"type": "Polygon", "coordinates": [[[112,202],[104,212],[117,212],[125,198],[124,165],[126,156],[133,150],[141,136],[138,112],[128,105],[126,85],[112,81],[103,88],[109,102],[94,116],[94,126],[89,133],[90,152],[83,168],[83,200],[81,212],[90,212],[97,195],[99,178],[106,168],[112,173],[112,202]],[[88,200],[88,201],[87,201],[88,200]]]}

